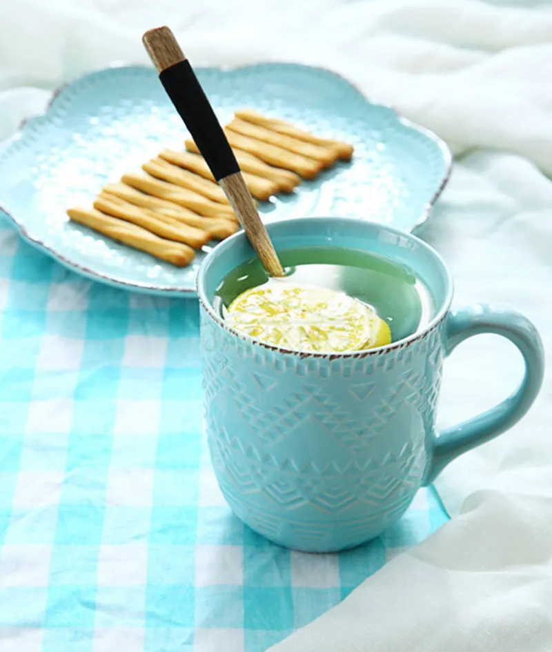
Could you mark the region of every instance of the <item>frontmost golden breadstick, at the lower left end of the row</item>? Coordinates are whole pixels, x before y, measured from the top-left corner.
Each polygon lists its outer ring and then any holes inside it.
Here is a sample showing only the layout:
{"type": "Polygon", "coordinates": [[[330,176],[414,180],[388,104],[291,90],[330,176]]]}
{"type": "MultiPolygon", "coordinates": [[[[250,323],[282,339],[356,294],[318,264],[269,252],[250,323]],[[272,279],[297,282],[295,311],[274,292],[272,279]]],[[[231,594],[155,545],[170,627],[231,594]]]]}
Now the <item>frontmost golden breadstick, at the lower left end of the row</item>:
{"type": "Polygon", "coordinates": [[[153,235],[145,228],[130,224],[122,219],[103,215],[95,208],[82,208],[76,206],[67,211],[72,221],[88,226],[98,233],[128,244],[129,246],[146,251],[147,253],[166,260],[177,267],[186,267],[194,258],[194,250],[186,244],[164,240],[153,235]]]}

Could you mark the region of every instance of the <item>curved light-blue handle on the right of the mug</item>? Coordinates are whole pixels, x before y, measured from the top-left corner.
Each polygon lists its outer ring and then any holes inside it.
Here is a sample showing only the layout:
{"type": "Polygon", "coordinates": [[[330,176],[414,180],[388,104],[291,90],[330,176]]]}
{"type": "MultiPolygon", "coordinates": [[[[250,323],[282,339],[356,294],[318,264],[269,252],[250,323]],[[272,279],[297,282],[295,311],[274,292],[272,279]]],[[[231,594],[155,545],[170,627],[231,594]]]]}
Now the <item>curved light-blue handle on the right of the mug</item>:
{"type": "Polygon", "coordinates": [[[455,457],[511,428],[529,410],[542,386],[544,348],[538,330],[515,310],[475,305],[447,317],[445,356],[464,339],[481,333],[502,335],[520,350],[525,375],[517,390],[494,408],[433,435],[431,462],[424,485],[431,484],[455,457]]]}

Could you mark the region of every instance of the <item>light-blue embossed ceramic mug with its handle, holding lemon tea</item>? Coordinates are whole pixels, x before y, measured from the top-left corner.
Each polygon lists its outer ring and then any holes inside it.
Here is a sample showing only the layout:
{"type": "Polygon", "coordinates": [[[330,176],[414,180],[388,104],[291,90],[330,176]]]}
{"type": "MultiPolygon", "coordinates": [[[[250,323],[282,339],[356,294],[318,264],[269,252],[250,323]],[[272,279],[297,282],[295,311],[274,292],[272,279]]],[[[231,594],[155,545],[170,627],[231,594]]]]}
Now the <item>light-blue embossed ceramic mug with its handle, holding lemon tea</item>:
{"type": "Polygon", "coordinates": [[[276,250],[335,245],[391,258],[410,267],[435,302],[426,328],[388,346],[297,353],[236,333],[213,308],[222,279],[255,255],[244,233],[219,244],[199,270],[206,428],[224,497],[273,542],[304,551],[351,548],[395,523],[457,455],[526,413],[542,384],[542,342],[511,310],[451,312],[444,261],[412,235],[334,217],[281,221],[268,230],[276,250]],[[436,433],[443,359],[479,333],[519,348],[522,384],[488,412],[436,433]]]}

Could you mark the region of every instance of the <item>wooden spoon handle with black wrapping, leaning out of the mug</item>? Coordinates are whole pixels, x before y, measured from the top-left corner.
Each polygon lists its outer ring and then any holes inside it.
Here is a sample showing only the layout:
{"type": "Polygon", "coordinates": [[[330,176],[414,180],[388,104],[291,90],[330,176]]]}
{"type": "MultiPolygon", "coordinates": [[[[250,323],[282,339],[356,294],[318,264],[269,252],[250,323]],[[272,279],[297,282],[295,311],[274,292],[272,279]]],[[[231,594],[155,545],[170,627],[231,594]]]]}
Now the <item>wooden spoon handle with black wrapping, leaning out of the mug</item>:
{"type": "Polygon", "coordinates": [[[242,172],[201,84],[168,27],[142,37],[167,95],[195,140],[213,176],[232,204],[240,224],[271,276],[284,270],[246,186],[242,172]]]}

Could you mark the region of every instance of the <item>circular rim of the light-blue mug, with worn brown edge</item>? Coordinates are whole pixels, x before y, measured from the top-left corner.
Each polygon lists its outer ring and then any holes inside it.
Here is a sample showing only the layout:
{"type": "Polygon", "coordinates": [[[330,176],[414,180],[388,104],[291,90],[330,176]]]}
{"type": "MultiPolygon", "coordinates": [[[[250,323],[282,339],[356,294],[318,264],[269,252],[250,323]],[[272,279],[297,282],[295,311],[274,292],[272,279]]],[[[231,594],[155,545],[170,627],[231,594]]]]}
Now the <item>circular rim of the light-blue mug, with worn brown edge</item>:
{"type": "Polygon", "coordinates": [[[275,344],[268,344],[266,342],[261,342],[259,339],[255,339],[254,337],[251,337],[250,335],[245,335],[244,333],[239,333],[237,330],[232,328],[231,326],[228,326],[224,319],[222,319],[219,315],[217,315],[215,309],[213,306],[210,305],[210,302],[208,301],[206,297],[206,292],[204,288],[204,273],[208,265],[210,264],[210,261],[215,258],[218,253],[221,251],[224,251],[232,246],[235,246],[235,242],[237,242],[239,239],[246,238],[246,234],[243,229],[239,230],[237,233],[234,233],[233,235],[230,235],[230,237],[224,239],[223,241],[219,242],[217,246],[215,246],[210,252],[206,255],[206,257],[201,261],[201,266],[199,267],[199,270],[197,272],[196,276],[196,289],[197,289],[197,297],[199,299],[199,303],[201,306],[204,308],[206,313],[209,315],[213,321],[221,326],[221,328],[224,328],[224,330],[227,330],[228,333],[232,333],[235,337],[238,337],[241,339],[243,342],[246,342],[248,344],[256,344],[257,346],[262,346],[268,350],[273,350],[277,351],[277,353],[286,353],[288,355],[297,355],[301,359],[303,358],[318,358],[318,359],[341,359],[341,358],[359,358],[359,357],[367,357],[368,355],[384,355],[388,352],[397,350],[397,348],[404,348],[406,346],[410,346],[413,342],[417,342],[417,340],[422,339],[422,337],[425,337],[428,333],[430,333],[432,330],[437,328],[439,324],[443,321],[443,319],[446,317],[447,313],[449,313],[449,310],[451,308],[451,304],[453,301],[453,294],[454,294],[454,281],[453,277],[451,275],[451,272],[449,268],[446,266],[446,263],[440,253],[437,252],[431,245],[427,244],[424,240],[422,240],[420,237],[417,237],[416,235],[413,235],[413,233],[406,233],[405,231],[402,231],[398,228],[394,228],[392,226],[386,226],[385,224],[378,224],[377,222],[371,222],[366,219],[362,219],[360,217],[337,217],[335,215],[328,215],[328,216],[321,216],[321,217],[289,217],[287,219],[282,219],[277,222],[273,222],[271,224],[266,225],[267,229],[270,231],[270,226],[273,224],[276,225],[293,225],[293,224],[299,224],[299,223],[306,223],[306,222],[312,222],[316,220],[322,220],[322,221],[351,221],[353,223],[356,223],[358,225],[362,226],[370,226],[371,228],[375,228],[376,230],[384,231],[386,233],[391,233],[393,235],[397,235],[400,237],[406,237],[412,241],[414,241],[418,246],[420,246],[422,249],[426,251],[429,255],[433,256],[434,259],[437,260],[437,264],[442,268],[442,271],[444,273],[444,277],[446,278],[446,296],[444,298],[444,301],[442,302],[442,306],[440,310],[435,313],[435,316],[431,321],[424,327],[422,330],[418,330],[415,333],[412,333],[411,335],[408,335],[407,337],[403,337],[402,339],[398,339],[397,342],[391,342],[391,344],[385,344],[384,346],[376,346],[375,348],[368,348],[366,350],[357,350],[357,351],[344,351],[342,353],[337,353],[337,352],[328,352],[328,351],[302,351],[298,349],[290,349],[290,348],[284,348],[282,346],[277,346],[275,344]]]}

